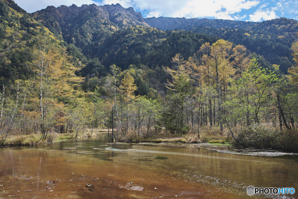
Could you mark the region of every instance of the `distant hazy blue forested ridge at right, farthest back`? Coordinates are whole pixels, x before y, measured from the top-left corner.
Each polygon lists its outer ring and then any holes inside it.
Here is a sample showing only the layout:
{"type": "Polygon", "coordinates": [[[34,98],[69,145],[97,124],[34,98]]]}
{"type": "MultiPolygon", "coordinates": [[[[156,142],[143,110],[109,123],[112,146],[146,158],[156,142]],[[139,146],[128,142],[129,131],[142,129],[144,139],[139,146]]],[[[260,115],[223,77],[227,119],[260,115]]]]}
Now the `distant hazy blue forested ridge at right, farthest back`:
{"type": "Polygon", "coordinates": [[[251,52],[262,55],[271,64],[280,65],[287,73],[294,64],[291,45],[297,39],[297,21],[278,18],[262,22],[231,21],[206,18],[145,18],[151,27],[160,30],[191,30],[217,36],[247,47],[251,52]]]}

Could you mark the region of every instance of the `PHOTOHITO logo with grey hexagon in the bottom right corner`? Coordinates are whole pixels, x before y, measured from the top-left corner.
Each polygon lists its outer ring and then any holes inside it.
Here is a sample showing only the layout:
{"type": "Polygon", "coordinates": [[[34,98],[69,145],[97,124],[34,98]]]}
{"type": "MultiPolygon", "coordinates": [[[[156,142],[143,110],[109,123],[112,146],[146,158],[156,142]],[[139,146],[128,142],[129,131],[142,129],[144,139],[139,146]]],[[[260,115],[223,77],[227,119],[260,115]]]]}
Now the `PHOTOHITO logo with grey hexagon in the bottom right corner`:
{"type": "Polygon", "coordinates": [[[254,195],[254,194],[294,194],[295,189],[294,188],[256,188],[253,186],[247,187],[247,194],[248,195],[254,195]]]}

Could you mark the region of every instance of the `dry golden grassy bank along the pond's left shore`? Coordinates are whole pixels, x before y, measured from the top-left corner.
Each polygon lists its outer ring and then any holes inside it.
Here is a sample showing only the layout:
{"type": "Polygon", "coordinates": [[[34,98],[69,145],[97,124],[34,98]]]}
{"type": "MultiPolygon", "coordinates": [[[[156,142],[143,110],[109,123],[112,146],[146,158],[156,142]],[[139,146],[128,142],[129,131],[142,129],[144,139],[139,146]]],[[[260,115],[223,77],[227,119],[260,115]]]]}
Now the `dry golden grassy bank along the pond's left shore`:
{"type": "MultiPolygon", "coordinates": [[[[91,129],[86,129],[83,133],[79,134],[76,139],[88,138],[97,136],[101,132],[106,132],[106,129],[94,129],[91,134],[91,129]]],[[[14,134],[9,135],[5,141],[0,139],[0,146],[36,146],[40,144],[47,144],[51,142],[60,142],[68,139],[75,139],[73,133],[49,133],[46,139],[41,139],[40,133],[31,133],[28,135],[14,134]]]]}

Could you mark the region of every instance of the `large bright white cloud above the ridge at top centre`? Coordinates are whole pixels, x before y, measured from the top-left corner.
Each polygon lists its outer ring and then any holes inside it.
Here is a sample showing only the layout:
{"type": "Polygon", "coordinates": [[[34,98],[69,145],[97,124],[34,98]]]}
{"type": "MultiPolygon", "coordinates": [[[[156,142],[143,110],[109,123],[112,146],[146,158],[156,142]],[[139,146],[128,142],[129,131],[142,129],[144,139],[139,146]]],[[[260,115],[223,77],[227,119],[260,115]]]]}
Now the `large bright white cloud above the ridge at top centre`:
{"type": "Polygon", "coordinates": [[[103,0],[102,5],[119,3],[123,7],[133,7],[148,11],[146,17],[213,17],[239,20],[243,16],[234,15],[242,10],[250,9],[259,4],[259,0],[103,0]]]}

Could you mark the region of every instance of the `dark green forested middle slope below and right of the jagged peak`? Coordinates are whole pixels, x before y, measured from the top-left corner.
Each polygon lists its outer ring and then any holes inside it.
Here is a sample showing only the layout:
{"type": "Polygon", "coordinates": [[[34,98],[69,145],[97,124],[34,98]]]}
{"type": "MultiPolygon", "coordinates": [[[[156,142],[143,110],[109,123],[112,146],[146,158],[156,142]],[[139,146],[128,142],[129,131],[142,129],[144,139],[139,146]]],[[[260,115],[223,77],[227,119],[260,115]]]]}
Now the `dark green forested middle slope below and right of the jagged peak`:
{"type": "MultiPolygon", "coordinates": [[[[190,31],[161,31],[156,28],[135,26],[119,30],[99,46],[97,56],[103,65],[115,63],[122,69],[130,64],[138,68],[170,66],[170,59],[177,53],[188,58],[197,52],[205,42],[214,43],[218,38],[190,31]],[[137,33],[136,33],[137,31],[137,33]],[[106,54],[107,53],[107,54],[106,54]]],[[[164,74],[158,74],[162,78],[164,74]]],[[[155,76],[150,78],[156,78],[155,76]]]]}

